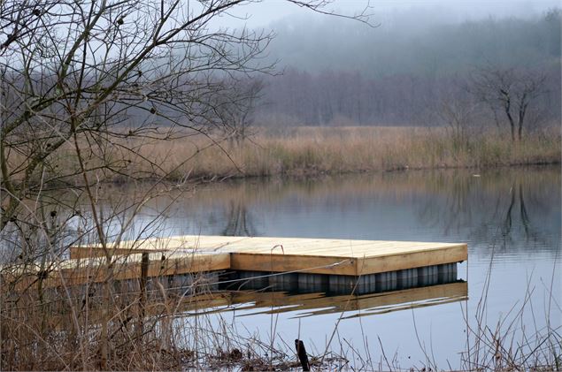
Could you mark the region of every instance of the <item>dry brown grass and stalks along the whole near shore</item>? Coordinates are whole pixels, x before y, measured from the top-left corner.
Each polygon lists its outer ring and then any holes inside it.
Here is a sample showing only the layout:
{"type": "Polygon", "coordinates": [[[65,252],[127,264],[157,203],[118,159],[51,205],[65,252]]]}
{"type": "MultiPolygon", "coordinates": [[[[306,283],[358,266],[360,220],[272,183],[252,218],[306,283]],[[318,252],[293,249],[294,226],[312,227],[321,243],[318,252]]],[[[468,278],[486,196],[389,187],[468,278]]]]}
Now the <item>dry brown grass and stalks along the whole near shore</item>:
{"type": "MultiPolygon", "coordinates": [[[[276,338],[274,342],[265,342],[260,339],[264,335],[243,337],[227,322],[212,322],[204,311],[206,307],[217,306],[212,296],[208,296],[212,283],[202,285],[204,277],[197,275],[191,279],[191,284],[179,291],[158,285],[166,282],[167,277],[156,278],[154,286],[146,291],[139,288],[139,280],[112,280],[105,288],[104,284],[90,283],[42,291],[36,286],[14,291],[4,282],[0,291],[0,368],[300,370],[287,340],[276,338]],[[106,288],[110,289],[109,296],[104,293],[106,288]],[[102,357],[103,345],[110,351],[107,359],[102,357]]],[[[520,308],[512,309],[505,320],[492,327],[483,318],[487,294],[482,293],[475,321],[466,318],[467,341],[470,341],[462,353],[459,370],[562,368],[560,329],[550,328],[548,323],[546,328],[532,330],[530,324],[521,323],[520,314],[532,308],[530,295],[529,292],[520,308]],[[522,336],[515,336],[519,334],[515,330],[521,330],[522,336]]],[[[558,314],[557,311],[553,314],[558,314]]],[[[550,319],[554,315],[549,312],[545,316],[550,319]]],[[[327,332],[330,327],[336,331],[338,324],[327,326],[327,332]]],[[[378,367],[373,361],[364,361],[355,347],[358,345],[343,347],[335,343],[323,352],[314,353],[313,370],[404,370],[394,359],[392,366],[389,361],[381,360],[378,367]],[[355,360],[357,364],[348,365],[345,354],[330,351],[343,348],[351,349],[349,353],[359,358],[355,360]]],[[[384,353],[383,345],[373,348],[376,353],[384,353]]],[[[422,351],[426,353],[425,349],[422,351]]],[[[442,370],[443,366],[437,366],[430,355],[426,356],[424,369],[442,370]]]]}

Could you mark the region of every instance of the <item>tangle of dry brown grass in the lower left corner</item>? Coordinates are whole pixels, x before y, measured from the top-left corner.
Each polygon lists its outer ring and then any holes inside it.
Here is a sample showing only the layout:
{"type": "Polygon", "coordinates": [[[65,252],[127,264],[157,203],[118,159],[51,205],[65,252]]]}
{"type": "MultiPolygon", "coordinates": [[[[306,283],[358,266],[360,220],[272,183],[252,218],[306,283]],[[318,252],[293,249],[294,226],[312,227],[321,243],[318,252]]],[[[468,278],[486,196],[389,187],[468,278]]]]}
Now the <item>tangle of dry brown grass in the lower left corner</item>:
{"type": "Polygon", "coordinates": [[[35,283],[23,291],[4,282],[0,369],[288,370],[299,365],[289,348],[277,348],[276,342],[272,349],[259,335],[244,337],[224,320],[212,321],[202,311],[213,306],[212,288],[199,278],[164,289],[158,285],[167,280],[162,277],[151,281],[148,291],[139,289],[140,279],[42,290],[35,283]]]}

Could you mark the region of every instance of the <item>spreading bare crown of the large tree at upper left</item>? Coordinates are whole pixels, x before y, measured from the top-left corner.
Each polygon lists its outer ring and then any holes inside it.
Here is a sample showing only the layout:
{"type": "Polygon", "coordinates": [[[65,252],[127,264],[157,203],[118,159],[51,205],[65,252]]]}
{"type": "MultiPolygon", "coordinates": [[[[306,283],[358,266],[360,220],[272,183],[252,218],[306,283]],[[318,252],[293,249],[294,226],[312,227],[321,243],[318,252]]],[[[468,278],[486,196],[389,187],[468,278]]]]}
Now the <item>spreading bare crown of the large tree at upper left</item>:
{"type": "MultiPolygon", "coordinates": [[[[271,34],[213,26],[248,3],[3,1],[0,230],[26,220],[22,201],[42,186],[66,182],[93,198],[92,180],[131,177],[122,159],[141,156],[121,140],[166,140],[178,128],[181,135],[205,134],[228,125],[217,115],[217,96],[244,105],[248,95],[235,89],[237,76],[272,68],[255,62],[271,34]],[[61,167],[60,156],[76,166],[61,167]]],[[[330,12],[324,0],[288,3],[330,12]]],[[[365,21],[366,14],[350,18],[365,21]]]]}

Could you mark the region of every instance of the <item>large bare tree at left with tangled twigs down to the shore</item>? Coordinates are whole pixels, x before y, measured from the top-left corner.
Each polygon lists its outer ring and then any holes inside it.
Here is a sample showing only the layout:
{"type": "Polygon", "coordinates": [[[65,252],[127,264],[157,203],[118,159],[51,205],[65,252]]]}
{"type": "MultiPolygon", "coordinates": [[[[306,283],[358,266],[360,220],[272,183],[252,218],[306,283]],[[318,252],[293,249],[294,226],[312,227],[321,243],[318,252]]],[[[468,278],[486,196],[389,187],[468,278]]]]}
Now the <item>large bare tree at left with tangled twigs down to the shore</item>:
{"type": "MultiPolygon", "coordinates": [[[[34,280],[23,291],[14,289],[18,281],[22,284],[19,278],[6,287],[5,262],[0,265],[3,368],[4,349],[10,345],[17,353],[11,353],[15,360],[8,366],[32,369],[38,360],[40,368],[50,368],[41,358],[52,353],[59,363],[55,369],[76,368],[75,350],[60,353],[50,345],[54,334],[64,333],[47,325],[52,312],[46,305],[57,301],[71,307],[73,322],[65,324],[65,345],[80,347],[82,369],[135,368],[119,360],[128,358],[132,343],[142,343],[144,297],[137,300],[142,310],[136,316],[138,331],[129,331],[130,319],[123,316],[130,303],[114,296],[112,288],[117,265],[112,248],[132,230],[135,216],[166,178],[161,167],[166,159],[148,158],[141,149],[148,140],[208,136],[223,128],[227,123],[217,115],[217,97],[238,104],[244,92],[236,90],[237,82],[254,72],[271,71],[272,65],[256,59],[271,34],[217,27],[214,22],[250,3],[259,1],[0,1],[0,249],[10,239],[10,246],[19,249],[14,257],[17,272],[34,280]],[[142,193],[132,197],[129,190],[105,190],[104,182],[116,177],[127,183],[142,178],[145,174],[135,162],[146,164],[153,180],[142,193]],[[113,197],[109,207],[100,202],[113,197]],[[73,227],[76,217],[87,231],[75,229],[78,236],[67,241],[63,232],[73,227]],[[86,234],[104,254],[96,299],[104,305],[96,324],[78,322],[82,309],[88,314],[89,294],[73,297],[65,288],[62,294],[50,291],[51,299],[45,300],[41,285],[57,264],[56,246],[65,249],[86,234]],[[32,249],[25,251],[27,247],[32,249]],[[22,298],[28,306],[18,304],[22,298]],[[16,317],[18,309],[23,310],[16,317]],[[37,314],[42,319],[38,327],[26,323],[37,314]],[[8,321],[13,321],[13,332],[4,327],[8,321]],[[27,336],[20,337],[20,325],[27,336]]],[[[326,0],[287,3],[331,13],[326,0]]],[[[366,14],[349,18],[366,21],[366,14]]]]}

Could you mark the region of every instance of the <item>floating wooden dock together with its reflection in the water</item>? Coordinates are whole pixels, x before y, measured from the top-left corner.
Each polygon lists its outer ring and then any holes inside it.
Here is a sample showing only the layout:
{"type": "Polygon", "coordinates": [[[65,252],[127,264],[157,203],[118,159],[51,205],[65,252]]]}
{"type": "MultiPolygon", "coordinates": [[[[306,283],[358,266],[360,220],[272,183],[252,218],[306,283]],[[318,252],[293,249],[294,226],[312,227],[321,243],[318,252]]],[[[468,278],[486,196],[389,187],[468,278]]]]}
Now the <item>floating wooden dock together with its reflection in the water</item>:
{"type": "MultiPolygon", "coordinates": [[[[94,323],[103,314],[96,293],[104,292],[108,278],[124,317],[202,314],[235,305],[246,315],[359,316],[360,309],[368,315],[466,300],[468,292],[458,279],[457,264],[467,259],[460,243],[179,236],[110,247],[71,247],[69,257],[48,262],[45,270],[3,268],[0,282],[24,291],[41,279],[42,288],[55,294],[64,286],[65,304],[88,295],[94,323]]],[[[63,308],[60,322],[68,322],[70,309],[52,306],[63,308]]]]}

